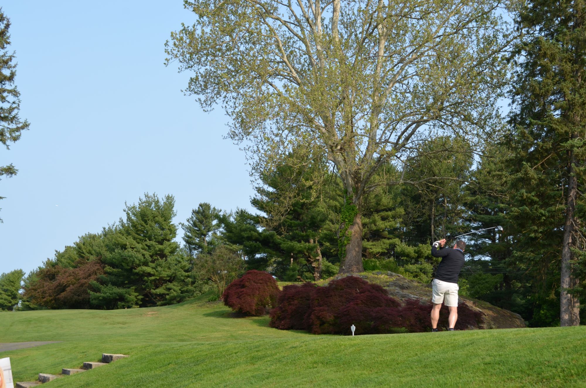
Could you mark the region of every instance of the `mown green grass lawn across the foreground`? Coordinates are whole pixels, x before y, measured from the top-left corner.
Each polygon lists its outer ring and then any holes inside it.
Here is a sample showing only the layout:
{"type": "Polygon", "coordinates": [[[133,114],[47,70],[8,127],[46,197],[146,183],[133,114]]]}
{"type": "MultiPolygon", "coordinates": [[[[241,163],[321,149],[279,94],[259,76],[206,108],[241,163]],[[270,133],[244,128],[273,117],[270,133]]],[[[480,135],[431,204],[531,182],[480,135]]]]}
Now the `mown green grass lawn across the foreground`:
{"type": "Polygon", "coordinates": [[[230,318],[205,297],[115,311],[0,313],[0,342],[64,341],[0,353],[15,381],[130,358],[57,387],[586,387],[586,327],[331,336],[230,318]]]}

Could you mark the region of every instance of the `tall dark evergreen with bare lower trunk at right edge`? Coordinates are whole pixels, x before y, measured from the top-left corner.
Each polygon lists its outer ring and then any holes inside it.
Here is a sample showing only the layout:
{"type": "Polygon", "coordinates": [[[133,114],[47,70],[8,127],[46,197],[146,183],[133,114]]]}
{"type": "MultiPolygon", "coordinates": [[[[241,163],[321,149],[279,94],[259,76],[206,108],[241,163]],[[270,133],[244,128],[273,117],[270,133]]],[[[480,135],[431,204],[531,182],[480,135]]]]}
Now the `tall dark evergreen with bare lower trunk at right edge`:
{"type": "Polygon", "coordinates": [[[533,0],[517,26],[517,73],[510,211],[523,233],[515,256],[542,271],[560,271],[561,326],[580,324],[578,275],[586,241],[586,3],[533,0]]]}

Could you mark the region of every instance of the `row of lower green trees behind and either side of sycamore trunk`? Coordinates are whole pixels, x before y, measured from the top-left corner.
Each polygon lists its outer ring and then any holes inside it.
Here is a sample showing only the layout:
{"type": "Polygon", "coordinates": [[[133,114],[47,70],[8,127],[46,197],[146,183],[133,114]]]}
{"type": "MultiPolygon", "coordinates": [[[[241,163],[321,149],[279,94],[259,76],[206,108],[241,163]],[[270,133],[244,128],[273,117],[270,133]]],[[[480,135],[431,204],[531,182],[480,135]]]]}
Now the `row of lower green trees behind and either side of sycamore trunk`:
{"type": "MultiPolygon", "coordinates": [[[[532,326],[558,324],[560,263],[544,261],[527,248],[534,236],[523,229],[529,220],[519,220],[526,202],[512,189],[518,178],[514,155],[504,158],[503,147],[487,148],[475,164],[469,154],[444,151],[445,143],[454,141],[445,137],[425,142],[417,168],[381,168],[376,179],[427,178],[438,169],[458,179],[437,182],[434,188],[393,185],[370,192],[362,218],[364,269],[427,283],[438,264],[430,254],[432,241],[500,224],[503,232],[492,229],[467,239],[461,291],[517,312],[532,326]],[[498,158],[492,152],[499,152],[498,158]],[[503,169],[505,161],[509,170],[503,169]]],[[[145,194],[125,207],[118,223],[81,236],[28,274],[23,294],[15,286],[16,299],[2,307],[13,307],[19,298],[21,309],[147,307],[207,291],[217,298],[246,269],[268,271],[282,281],[317,281],[338,274],[345,258],[347,198],[325,159],[311,159],[298,169],[283,164],[261,183],[251,199],[253,212],[226,212],[199,203],[179,224],[173,223],[172,196],[145,194]],[[315,175],[325,182],[319,191],[309,179],[315,175]],[[290,202],[285,213],[282,201],[290,202]],[[182,243],[176,241],[179,228],[182,243]]],[[[554,250],[560,241],[557,236],[549,246],[542,242],[533,249],[554,250]]],[[[12,277],[19,283],[22,275],[12,277]]]]}

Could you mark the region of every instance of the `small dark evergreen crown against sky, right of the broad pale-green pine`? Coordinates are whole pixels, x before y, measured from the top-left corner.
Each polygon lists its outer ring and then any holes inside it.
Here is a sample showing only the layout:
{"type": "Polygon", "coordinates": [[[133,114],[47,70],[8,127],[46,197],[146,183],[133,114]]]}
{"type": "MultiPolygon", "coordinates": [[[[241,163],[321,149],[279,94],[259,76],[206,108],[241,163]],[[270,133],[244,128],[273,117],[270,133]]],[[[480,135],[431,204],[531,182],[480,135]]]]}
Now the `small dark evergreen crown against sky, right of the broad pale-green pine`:
{"type": "Polygon", "coordinates": [[[218,243],[218,231],[222,228],[220,223],[220,210],[212,207],[207,202],[200,203],[197,209],[191,211],[191,216],[186,223],[180,223],[183,232],[183,241],[190,256],[207,254],[218,243]]]}

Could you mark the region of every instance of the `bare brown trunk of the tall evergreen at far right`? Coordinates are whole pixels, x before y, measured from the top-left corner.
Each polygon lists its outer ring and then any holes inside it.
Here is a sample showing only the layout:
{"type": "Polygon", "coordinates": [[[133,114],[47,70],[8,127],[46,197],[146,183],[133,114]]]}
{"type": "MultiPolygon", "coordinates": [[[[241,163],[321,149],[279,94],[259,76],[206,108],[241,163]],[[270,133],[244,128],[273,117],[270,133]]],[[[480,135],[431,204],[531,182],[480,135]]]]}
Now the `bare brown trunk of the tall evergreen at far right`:
{"type": "Polygon", "coordinates": [[[578,326],[580,325],[580,299],[568,292],[568,289],[575,285],[575,280],[572,277],[571,260],[573,254],[571,248],[575,246],[575,241],[573,241],[575,239],[574,213],[578,189],[574,171],[574,151],[570,149],[568,156],[570,156],[570,164],[568,165],[569,181],[566,197],[567,205],[565,207],[564,239],[561,247],[560,325],[578,326]]]}

